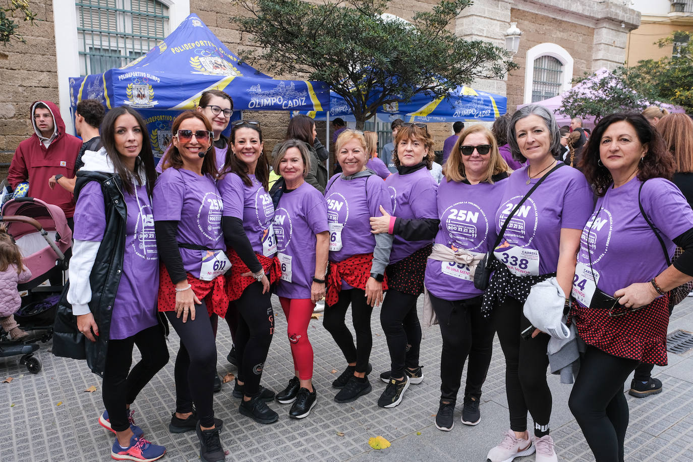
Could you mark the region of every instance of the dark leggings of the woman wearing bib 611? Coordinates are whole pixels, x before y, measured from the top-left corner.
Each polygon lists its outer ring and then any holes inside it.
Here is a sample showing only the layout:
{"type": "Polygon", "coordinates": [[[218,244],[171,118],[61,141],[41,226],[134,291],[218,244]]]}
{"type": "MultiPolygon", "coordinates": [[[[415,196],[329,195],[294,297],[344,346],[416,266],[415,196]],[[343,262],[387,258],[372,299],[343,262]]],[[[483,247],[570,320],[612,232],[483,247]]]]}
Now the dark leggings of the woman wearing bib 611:
{"type": "Polygon", "coordinates": [[[175,359],[175,410],[181,414],[198,409],[200,425],[214,426],[212,395],[216,375],[216,342],[207,305],[195,305],[195,320],[177,318],[175,311],[166,317],[180,337],[180,348],[175,359]]]}

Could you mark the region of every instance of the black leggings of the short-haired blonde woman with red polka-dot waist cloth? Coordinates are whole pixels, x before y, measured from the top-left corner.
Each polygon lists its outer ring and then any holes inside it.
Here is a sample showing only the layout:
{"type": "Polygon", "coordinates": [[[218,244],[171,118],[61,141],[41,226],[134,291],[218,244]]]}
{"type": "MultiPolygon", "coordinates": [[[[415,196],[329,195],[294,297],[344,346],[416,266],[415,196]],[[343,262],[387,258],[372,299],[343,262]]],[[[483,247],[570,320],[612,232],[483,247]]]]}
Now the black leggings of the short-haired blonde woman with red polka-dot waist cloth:
{"type": "Polygon", "coordinates": [[[325,309],[322,325],[332,334],[332,338],[342,350],[347,362],[356,362],[356,372],[367,371],[368,359],[371,357],[372,313],[373,307],[366,303],[366,292],[360,289],[341,290],[337,303],[325,309]],[[356,346],[353,344],[353,337],[345,322],[349,304],[351,304],[353,329],[356,331],[356,346]]]}

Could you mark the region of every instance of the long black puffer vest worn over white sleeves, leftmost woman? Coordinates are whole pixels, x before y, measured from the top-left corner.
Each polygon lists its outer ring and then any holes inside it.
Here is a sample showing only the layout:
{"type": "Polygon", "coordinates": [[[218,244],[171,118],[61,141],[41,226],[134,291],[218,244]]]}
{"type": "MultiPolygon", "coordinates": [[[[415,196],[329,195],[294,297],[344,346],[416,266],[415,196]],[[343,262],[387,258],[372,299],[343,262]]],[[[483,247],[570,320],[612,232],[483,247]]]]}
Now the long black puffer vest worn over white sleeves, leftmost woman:
{"type": "Polygon", "coordinates": [[[123,273],[125,224],[128,220],[128,211],[125,208],[121,179],[117,174],[112,173],[80,170],[77,173],[75,185],[75,201],[79,191],[89,181],[100,183],[106,206],[106,229],[89,276],[91,282],[89,310],[94,314],[94,320],[98,326],[98,337],[96,343],[91,342],[78,330],[77,318],[73,316],[72,307],[67,302],[68,281],[62,291],[58,312],[55,315],[53,354],[74,359],[87,359],[91,372],[103,377],[113,302],[123,273]]]}

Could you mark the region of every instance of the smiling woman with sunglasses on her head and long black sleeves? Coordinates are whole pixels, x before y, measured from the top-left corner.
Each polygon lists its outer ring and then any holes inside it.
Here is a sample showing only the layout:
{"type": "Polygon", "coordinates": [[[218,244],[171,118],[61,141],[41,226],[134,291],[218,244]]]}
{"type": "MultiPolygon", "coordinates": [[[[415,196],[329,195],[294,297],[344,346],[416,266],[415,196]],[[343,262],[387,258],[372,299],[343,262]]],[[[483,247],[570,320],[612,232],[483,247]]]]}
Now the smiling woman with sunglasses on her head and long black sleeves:
{"type": "Polygon", "coordinates": [[[222,225],[232,264],[227,294],[229,310],[234,312],[227,318],[234,316],[238,321],[234,396],[242,398],[240,414],[266,424],[279,419],[266,404],[274,399],[274,391],[260,386],[274,333],[270,285],[281,276],[272,226],[274,205],[267,193],[270,166],[263,153],[260,123],[234,121],[231,125],[231,154],[217,184],[225,204],[222,225]]]}

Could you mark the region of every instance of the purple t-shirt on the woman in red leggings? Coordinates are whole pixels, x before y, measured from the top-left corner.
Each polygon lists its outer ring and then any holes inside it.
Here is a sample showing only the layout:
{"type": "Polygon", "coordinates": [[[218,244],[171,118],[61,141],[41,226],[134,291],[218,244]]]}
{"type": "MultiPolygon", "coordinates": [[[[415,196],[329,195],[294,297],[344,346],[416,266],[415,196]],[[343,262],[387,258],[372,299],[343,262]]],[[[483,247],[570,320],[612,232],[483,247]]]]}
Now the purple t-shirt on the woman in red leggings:
{"type": "Polygon", "coordinates": [[[315,276],[315,235],[324,231],[328,231],[327,203],[319,190],[304,183],[281,196],[274,212],[277,257],[281,263],[277,295],[310,299],[315,276]]]}

